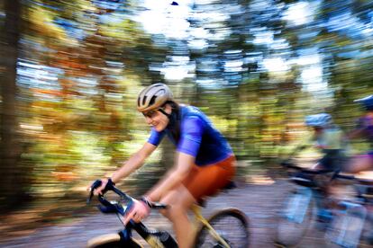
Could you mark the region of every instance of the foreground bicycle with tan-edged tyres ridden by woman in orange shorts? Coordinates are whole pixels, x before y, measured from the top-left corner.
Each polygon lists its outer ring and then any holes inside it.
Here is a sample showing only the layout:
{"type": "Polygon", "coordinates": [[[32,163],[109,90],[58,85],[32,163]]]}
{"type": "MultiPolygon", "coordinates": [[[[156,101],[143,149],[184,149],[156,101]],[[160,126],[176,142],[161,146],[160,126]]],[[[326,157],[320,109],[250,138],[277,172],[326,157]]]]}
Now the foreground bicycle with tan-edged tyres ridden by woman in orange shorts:
{"type": "MultiPolygon", "coordinates": [[[[108,183],[109,184],[109,183],[108,183]]],[[[87,203],[93,197],[93,191],[101,185],[97,180],[91,186],[90,195],[87,203]]],[[[101,203],[98,206],[103,213],[114,213],[123,223],[128,211],[132,208],[134,198],[116,188],[113,184],[106,185],[105,190],[112,190],[120,200],[108,200],[104,195],[98,195],[97,199],[101,203]]],[[[200,227],[196,233],[194,247],[249,247],[249,219],[237,208],[225,208],[215,212],[211,217],[205,218],[201,214],[201,208],[204,204],[195,205],[192,210],[196,216],[196,222],[200,227]]],[[[150,202],[151,209],[169,208],[167,205],[150,202]]],[[[130,220],[124,229],[116,234],[100,235],[88,241],[87,247],[142,247],[141,244],[132,237],[132,230],[137,232],[150,247],[157,248],[175,248],[177,242],[167,232],[152,230],[143,223],[136,223],[130,220]]]]}

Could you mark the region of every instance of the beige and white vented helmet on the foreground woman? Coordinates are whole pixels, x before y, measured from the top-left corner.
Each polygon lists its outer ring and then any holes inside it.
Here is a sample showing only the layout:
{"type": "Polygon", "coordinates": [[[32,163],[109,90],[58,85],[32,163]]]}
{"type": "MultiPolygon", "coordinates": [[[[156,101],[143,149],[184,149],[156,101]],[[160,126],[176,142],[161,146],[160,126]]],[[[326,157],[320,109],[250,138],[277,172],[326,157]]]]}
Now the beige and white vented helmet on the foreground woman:
{"type": "Polygon", "coordinates": [[[172,93],[166,84],[151,84],[139,94],[137,110],[140,112],[156,110],[170,100],[172,100],[172,93]]]}

